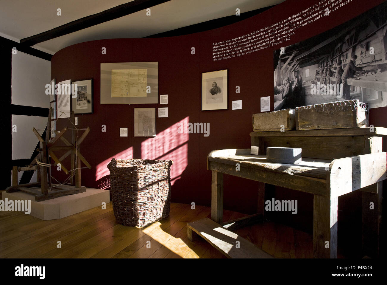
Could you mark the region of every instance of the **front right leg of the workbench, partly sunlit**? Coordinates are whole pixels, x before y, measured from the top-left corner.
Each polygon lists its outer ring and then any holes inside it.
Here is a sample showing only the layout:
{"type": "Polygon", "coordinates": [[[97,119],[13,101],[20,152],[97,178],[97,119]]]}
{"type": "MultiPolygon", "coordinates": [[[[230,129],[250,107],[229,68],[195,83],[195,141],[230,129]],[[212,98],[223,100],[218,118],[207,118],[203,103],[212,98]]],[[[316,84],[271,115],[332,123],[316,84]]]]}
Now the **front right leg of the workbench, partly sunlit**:
{"type": "Polygon", "coordinates": [[[313,197],[313,255],[337,258],[337,197],[313,197]]]}

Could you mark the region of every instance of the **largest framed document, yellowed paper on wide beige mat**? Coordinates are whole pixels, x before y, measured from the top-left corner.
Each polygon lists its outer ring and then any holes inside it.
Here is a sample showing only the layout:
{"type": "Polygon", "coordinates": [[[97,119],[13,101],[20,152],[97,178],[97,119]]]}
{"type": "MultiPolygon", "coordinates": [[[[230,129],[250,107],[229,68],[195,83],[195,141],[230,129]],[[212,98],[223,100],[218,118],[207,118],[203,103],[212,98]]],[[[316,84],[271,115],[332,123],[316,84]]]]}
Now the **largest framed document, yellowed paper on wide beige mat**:
{"type": "Polygon", "coordinates": [[[158,104],[159,63],[101,63],[101,104],[158,104]]]}

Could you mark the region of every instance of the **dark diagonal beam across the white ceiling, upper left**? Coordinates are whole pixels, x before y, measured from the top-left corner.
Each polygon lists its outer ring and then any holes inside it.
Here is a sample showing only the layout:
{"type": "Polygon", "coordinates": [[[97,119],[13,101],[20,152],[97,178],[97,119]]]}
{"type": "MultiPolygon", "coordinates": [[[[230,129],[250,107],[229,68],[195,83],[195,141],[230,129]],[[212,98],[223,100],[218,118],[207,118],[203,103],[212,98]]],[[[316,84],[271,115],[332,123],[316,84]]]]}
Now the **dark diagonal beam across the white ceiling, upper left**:
{"type": "Polygon", "coordinates": [[[49,31],[45,31],[38,35],[30,36],[20,40],[20,43],[27,45],[29,47],[41,43],[43,41],[48,41],[59,36],[64,36],[82,29],[86,29],[103,22],[108,22],[129,14],[159,5],[161,3],[168,2],[170,0],[134,0],[122,5],[118,5],[111,9],[99,12],[94,15],[80,18],[78,20],[69,22],[57,28],[53,28],[49,31]]]}

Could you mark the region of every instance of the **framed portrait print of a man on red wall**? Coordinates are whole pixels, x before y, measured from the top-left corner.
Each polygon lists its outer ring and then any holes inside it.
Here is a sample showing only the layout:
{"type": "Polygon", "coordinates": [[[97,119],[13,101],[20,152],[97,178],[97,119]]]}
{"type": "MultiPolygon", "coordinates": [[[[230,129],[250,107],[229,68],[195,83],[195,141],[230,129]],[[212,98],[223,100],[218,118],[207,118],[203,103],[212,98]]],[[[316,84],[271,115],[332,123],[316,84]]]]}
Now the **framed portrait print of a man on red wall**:
{"type": "Polygon", "coordinates": [[[202,111],[228,108],[227,71],[202,73],[202,111]]]}

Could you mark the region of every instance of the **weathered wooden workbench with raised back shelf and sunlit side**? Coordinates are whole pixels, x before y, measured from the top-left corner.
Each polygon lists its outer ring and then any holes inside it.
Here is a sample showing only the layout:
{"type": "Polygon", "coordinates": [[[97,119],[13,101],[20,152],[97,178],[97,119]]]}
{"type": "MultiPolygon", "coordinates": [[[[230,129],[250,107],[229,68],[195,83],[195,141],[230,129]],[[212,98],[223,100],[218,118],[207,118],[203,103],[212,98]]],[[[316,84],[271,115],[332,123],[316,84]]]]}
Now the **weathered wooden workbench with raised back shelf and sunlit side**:
{"type": "MultiPolygon", "coordinates": [[[[386,128],[271,131],[250,133],[250,149],[214,150],[207,157],[212,171],[211,219],[225,228],[238,228],[264,214],[265,184],[312,193],[313,254],[337,257],[337,200],[346,193],[363,192],[363,254],[377,257],[382,214],[382,180],[386,179],[386,152],[382,136],[386,128]],[[266,161],[266,147],[301,147],[300,164],[266,161]],[[258,213],[223,223],[223,173],[260,181],[258,213]],[[370,209],[370,203],[373,209],[370,209]]],[[[195,230],[195,228],[191,229],[195,230]]],[[[201,233],[203,229],[200,230],[201,233]]]]}

